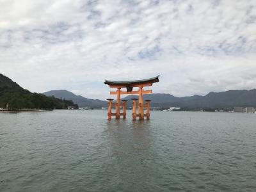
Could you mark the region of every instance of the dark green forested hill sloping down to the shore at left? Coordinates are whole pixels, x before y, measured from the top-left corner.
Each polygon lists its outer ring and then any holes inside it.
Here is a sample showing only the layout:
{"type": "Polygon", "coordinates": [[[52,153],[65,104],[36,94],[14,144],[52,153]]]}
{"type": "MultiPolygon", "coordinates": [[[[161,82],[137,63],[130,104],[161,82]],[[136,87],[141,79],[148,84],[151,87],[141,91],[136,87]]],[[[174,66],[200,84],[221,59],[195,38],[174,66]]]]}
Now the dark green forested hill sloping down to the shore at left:
{"type": "Polygon", "coordinates": [[[8,110],[65,109],[68,106],[78,107],[72,100],[31,93],[13,82],[12,79],[0,74],[0,108],[8,110]]]}

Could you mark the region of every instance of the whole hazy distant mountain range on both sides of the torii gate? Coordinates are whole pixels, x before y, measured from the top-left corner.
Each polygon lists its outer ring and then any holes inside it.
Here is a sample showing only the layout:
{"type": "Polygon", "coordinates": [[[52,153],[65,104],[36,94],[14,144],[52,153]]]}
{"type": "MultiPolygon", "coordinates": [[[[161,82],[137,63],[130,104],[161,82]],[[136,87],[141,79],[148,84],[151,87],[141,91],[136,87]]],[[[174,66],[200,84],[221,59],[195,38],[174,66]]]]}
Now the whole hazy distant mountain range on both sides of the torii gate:
{"type": "MultiPolygon", "coordinates": [[[[54,96],[60,99],[70,99],[80,107],[91,108],[107,107],[108,102],[99,99],[87,99],[80,95],[75,95],[67,90],[54,90],[43,93],[47,96],[54,96]]],[[[132,98],[138,95],[127,95],[122,98],[128,100],[127,106],[132,106],[132,98]]],[[[150,99],[152,107],[170,108],[180,107],[184,110],[204,109],[204,108],[234,108],[235,106],[256,108],[256,89],[254,90],[230,90],[227,92],[210,92],[205,96],[193,95],[189,97],[175,97],[167,93],[153,93],[143,95],[143,99],[150,99]]],[[[115,100],[114,100],[115,102],[115,100]]]]}

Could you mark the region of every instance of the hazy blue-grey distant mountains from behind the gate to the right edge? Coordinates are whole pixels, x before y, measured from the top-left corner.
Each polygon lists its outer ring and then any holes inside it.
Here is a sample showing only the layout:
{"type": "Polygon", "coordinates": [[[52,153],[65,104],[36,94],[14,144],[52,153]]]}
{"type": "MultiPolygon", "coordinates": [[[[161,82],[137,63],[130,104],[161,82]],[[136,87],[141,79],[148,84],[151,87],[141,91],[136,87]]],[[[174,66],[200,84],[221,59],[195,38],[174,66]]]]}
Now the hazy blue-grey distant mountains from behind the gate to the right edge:
{"type": "MultiPolygon", "coordinates": [[[[128,100],[131,106],[131,98],[138,95],[128,95],[123,99],[128,100]]],[[[151,106],[160,108],[170,108],[173,106],[198,109],[198,108],[234,108],[235,106],[256,108],[256,89],[253,90],[230,90],[227,92],[210,92],[205,96],[193,95],[191,97],[174,97],[170,94],[155,93],[145,94],[143,99],[150,99],[151,106]]]]}

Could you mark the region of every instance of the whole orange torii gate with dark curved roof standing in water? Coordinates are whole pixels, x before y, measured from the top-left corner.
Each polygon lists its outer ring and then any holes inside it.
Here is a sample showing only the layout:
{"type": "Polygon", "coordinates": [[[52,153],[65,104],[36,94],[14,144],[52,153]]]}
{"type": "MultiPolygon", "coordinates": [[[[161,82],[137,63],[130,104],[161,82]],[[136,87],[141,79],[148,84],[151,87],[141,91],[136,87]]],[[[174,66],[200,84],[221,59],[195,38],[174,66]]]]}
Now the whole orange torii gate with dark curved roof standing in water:
{"type": "Polygon", "coordinates": [[[136,80],[136,81],[108,81],[105,80],[104,84],[108,84],[110,88],[117,88],[116,92],[110,92],[110,95],[116,95],[116,103],[114,104],[116,107],[116,113],[111,112],[113,99],[108,99],[108,119],[111,119],[111,116],[116,116],[116,118],[120,118],[122,115],[123,118],[126,118],[126,102],[127,100],[122,100],[122,107],[123,113],[120,113],[120,95],[123,94],[138,94],[138,99],[132,99],[132,120],[136,120],[138,116],[140,120],[144,120],[144,116],[147,117],[147,120],[150,118],[150,100],[146,101],[147,106],[147,113],[144,114],[144,104],[143,104],[143,93],[152,93],[152,90],[143,90],[144,86],[152,86],[153,83],[159,82],[159,76],[150,78],[150,79],[143,79],[143,80],[136,80]],[[138,87],[139,90],[132,91],[132,88],[138,87]],[[121,88],[126,88],[126,92],[122,91],[121,88]],[[136,113],[137,103],[138,100],[138,114],[136,113]]]}

